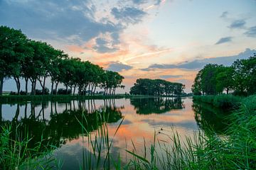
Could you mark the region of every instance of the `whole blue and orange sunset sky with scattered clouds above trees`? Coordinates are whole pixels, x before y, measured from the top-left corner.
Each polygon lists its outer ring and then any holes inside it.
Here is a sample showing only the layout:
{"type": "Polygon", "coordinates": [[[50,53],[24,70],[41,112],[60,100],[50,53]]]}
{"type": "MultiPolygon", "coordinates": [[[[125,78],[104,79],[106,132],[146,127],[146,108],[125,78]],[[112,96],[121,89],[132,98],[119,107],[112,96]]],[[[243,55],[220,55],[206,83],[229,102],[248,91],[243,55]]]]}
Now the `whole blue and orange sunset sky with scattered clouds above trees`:
{"type": "MultiPolygon", "coordinates": [[[[256,52],[255,0],[0,0],[0,25],[119,72],[126,86],[119,93],[139,78],[191,92],[205,64],[256,52]]],[[[4,91],[15,88],[6,80],[4,91]]]]}

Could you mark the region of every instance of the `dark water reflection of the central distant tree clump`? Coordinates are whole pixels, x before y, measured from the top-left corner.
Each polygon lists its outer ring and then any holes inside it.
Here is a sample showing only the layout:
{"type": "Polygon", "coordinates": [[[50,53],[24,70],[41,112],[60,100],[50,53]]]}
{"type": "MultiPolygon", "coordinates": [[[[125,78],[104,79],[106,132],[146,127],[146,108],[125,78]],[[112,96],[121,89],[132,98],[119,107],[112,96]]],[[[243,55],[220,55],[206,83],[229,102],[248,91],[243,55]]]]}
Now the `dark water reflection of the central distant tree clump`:
{"type": "Polygon", "coordinates": [[[174,109],[182,109],[185,106],[181,98],[134,98],[131,99],[138,114],[166,113],[174,109]]]}

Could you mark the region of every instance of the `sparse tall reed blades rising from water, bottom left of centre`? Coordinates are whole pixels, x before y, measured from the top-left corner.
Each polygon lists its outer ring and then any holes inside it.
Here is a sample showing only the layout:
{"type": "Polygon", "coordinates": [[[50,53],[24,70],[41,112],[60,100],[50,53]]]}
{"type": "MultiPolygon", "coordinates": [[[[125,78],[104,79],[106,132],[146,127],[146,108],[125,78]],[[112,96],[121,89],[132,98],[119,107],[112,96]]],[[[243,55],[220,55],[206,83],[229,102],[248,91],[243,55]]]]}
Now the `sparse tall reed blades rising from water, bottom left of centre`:
{"type": "Polygon", "coordinates": [[[99,123],[96,127],[99,128],[94,132],[87,131],[87,126],[90,124],[84,114],[82,114],[81,119],[77,118],[82,128],[82,143],[87,144],[82,147],[80,169],[111,169],[112,166],[116,167],[116,169],[121,169],[121,158],[118,156],[117,160],[115,160],[112,157],[111,149],[114,136],[117,134],[120,125],[122,125],[124,118],[117,126],[114,135],[110,137],[107,122],[111,115],[105,111],[103,111],[103,114],[97,112],[95,115],[97,123],[99,123]]]}

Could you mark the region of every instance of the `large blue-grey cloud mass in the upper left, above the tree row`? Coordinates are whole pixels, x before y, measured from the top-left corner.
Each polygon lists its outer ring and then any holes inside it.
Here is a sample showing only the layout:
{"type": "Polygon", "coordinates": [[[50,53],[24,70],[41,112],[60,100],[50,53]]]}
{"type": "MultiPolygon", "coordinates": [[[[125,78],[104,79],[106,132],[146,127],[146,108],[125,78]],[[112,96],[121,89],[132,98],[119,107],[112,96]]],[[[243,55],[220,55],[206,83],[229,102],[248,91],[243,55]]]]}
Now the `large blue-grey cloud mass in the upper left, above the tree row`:
{"type": "Polygon", "coordinates": [[[91,1],[1,1],[0,24],[21,29],[39,39],[82,44],[100,34],[124,29],[109,20],[96,21],[91,1]]]}

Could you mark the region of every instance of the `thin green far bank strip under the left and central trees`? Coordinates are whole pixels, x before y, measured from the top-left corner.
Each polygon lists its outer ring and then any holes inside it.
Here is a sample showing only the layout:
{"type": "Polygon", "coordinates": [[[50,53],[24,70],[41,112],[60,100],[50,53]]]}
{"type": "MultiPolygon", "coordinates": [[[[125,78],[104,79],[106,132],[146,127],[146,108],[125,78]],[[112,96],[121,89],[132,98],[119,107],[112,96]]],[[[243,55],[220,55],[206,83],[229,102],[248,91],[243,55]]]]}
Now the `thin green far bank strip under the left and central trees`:
{"type": "Polygon", "coordinates": [[[73,100],[87,100],[87,99],[109,99],[109,98],[154,98],[154,97],[187,97],[183,96],[150,96],[150,95],[4,95],[0,96],[0,103],[16,103],[24,101],[73,101],[73,100]]]}

